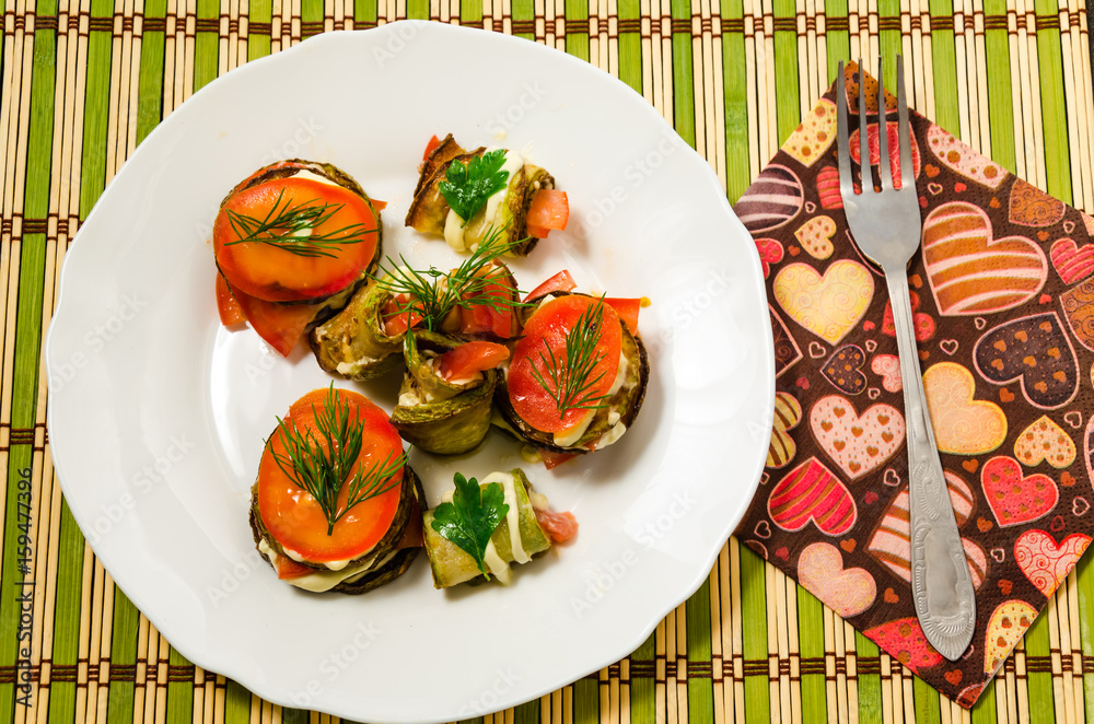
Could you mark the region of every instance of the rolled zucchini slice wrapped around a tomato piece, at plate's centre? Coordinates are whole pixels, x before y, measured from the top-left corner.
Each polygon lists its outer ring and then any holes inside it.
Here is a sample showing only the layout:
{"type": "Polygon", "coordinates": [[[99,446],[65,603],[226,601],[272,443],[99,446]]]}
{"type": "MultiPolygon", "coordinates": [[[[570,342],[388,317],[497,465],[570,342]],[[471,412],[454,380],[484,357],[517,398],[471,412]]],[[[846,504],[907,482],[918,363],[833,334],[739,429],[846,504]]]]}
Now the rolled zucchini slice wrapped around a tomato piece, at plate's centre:
{"type": "Polygon", "coordinates": [[[490,402],[498,372],[459,385],[441,378],[432,364],[464,339],[428,330],[414,330],[404,343],[407,373],[392,424],[403,439],[427,452],[458,455],[476,447],[490,430],[490,402]]]}

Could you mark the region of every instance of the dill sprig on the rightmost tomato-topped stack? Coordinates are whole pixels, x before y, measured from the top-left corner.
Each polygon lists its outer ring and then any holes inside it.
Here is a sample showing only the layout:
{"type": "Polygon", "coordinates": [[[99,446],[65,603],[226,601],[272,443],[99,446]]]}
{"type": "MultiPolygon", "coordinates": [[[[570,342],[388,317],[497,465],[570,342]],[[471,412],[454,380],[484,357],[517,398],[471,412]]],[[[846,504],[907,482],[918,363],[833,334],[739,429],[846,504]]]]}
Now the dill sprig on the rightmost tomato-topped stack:
{"type": "Polygon", "coordinates": [[[604,359],[604,352],[597,349],[603,322],[604,297],[598,296],[594,304],[585,307],[567,332],[566,355],[556,355],[548,342],[547,353],[539,352],[539,366],[535,361],[531,365],[532,376],[555,400],[559,420],[570,410],[598,410],[607,407],[605,400],[610,395],[595,394],[596,385],[606,373],[602,370],[593,376],[596,365],[604,359]]]}

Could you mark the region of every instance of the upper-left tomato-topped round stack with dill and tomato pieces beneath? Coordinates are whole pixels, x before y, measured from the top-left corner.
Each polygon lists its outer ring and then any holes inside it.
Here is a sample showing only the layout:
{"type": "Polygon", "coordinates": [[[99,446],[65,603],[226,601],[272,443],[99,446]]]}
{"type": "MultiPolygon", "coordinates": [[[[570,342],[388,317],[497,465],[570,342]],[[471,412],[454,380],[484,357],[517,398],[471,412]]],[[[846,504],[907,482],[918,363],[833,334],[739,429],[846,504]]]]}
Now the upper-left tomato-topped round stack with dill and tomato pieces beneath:
{"type": "Polygon", "coordinates": [[[280,161],[248,176],[213,223],[221,319],[245,319],[288,357],[375,270],[381,208],[326,163],[280,161]]]}

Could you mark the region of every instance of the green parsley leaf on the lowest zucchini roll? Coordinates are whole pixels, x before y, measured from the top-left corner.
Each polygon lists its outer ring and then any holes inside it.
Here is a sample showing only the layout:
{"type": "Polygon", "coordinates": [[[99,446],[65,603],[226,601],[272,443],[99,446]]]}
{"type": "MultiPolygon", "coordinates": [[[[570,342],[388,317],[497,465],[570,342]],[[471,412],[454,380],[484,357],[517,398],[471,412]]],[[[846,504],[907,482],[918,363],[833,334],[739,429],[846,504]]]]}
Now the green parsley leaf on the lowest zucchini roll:
{"type": "Polygon", "coordinates": [[[456,490],[451,503],[441,503],[433,511],[430,523],[433,530],[462,548],[490,580],[486,567],[486,547],[501,518],[509,513],[505,491],[500,483],[491,482],[480,489],[478,480],[467,480],[461,474],[453,477],[456,490]]]}

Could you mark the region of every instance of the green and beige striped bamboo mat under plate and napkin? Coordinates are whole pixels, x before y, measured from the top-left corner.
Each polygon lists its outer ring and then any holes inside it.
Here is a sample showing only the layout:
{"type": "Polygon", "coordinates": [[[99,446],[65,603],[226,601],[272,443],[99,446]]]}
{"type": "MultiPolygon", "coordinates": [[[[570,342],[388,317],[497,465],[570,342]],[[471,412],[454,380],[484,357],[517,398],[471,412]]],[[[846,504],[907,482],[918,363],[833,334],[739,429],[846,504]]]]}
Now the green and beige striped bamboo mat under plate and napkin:
{"type": "MultiPolygon", "coordinates": [[[[1090,11],[1057,1],[5,0],[0,722],[330,719],[274,707],[172,650],[85,545],[50,464],[40,347],[66,248],[125,159],[195,90],[327,31],[420,17],[512,33],[630,84],[732,201],[839,59],[903,52],[918,109],[1094,213],[1090,11]]],[[[1080,563],[966,712],[731,539],[631,656],[484,717],[596,720],[1094,722],[1094,570],[1080,563]]]]}

